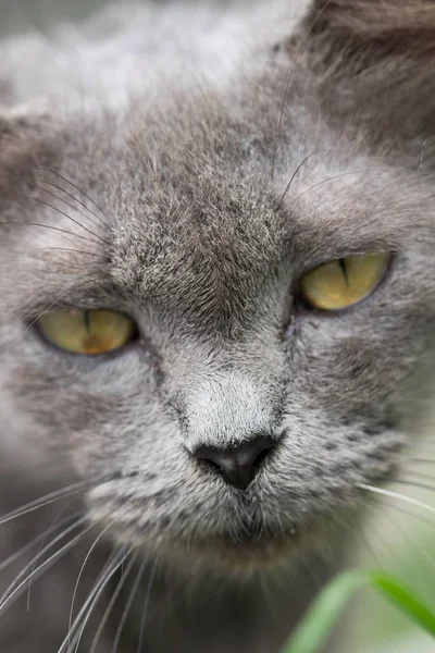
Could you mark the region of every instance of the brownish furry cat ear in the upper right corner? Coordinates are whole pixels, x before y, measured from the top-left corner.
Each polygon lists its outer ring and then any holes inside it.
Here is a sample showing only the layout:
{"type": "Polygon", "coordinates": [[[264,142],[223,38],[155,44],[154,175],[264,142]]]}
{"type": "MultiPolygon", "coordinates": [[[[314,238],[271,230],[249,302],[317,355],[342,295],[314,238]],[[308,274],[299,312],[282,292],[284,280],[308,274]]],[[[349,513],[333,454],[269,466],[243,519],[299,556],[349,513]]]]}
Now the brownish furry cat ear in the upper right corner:
{"type": "Polygon", "coordinates": [[[302,59],[337,120],[435,135],[435,0],[313,0],[302,59]]]}

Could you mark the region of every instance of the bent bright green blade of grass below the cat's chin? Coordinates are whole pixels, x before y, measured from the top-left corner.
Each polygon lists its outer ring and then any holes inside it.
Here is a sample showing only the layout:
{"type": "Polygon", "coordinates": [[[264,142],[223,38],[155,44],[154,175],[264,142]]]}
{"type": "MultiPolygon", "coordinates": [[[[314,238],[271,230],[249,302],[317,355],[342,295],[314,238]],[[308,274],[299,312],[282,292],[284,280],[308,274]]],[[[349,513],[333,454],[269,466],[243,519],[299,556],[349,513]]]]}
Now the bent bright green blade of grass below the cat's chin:
{"type": "Polygon", "coordinates": [[[399,579],[383,571],[345,571],[326,586],[289,639],[283,653],[315,653],[326,642],[346,603],[357,590],[370,587],[435,638],[435,612],[399,579]]]}

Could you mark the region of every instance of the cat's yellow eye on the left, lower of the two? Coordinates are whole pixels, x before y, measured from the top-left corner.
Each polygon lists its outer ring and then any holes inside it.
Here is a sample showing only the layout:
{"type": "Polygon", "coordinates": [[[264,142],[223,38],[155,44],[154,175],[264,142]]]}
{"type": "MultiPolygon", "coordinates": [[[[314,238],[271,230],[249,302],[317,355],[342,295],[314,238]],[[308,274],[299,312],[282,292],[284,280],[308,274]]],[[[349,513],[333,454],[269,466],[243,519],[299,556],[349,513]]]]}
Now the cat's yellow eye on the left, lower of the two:
{"type": "Polygon", "coordinates": [[[36,322],[53,345],[73,354],[97,355],[126,345],[135,334],[135,323],[111,310],[59,309],[36,322]]]}

